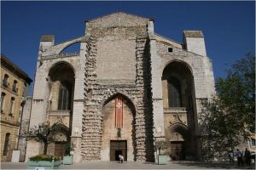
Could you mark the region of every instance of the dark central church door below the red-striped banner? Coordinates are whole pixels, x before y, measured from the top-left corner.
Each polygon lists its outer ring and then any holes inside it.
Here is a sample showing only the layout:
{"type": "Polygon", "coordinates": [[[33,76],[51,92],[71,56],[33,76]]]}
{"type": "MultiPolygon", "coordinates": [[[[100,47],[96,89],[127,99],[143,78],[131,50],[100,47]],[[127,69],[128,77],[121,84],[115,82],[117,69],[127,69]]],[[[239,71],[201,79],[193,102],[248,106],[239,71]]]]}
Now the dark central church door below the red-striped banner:
{"type": "Polygon", "coordinates": [[[124,161],[127,161],[127,141],[111,140],[110,141],[110,161],[119,161],[119,155],[124,156],[124,161]]]}

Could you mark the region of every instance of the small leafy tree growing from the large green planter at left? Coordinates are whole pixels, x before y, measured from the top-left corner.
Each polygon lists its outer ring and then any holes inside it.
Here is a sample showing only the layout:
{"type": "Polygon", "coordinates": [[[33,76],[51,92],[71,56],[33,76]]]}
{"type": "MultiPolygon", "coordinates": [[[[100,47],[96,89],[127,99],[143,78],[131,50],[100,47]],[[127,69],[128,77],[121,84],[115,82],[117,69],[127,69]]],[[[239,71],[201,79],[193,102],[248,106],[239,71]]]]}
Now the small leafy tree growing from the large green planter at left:
{"type": "Polygon", "coordinates": [[[36,140],[37,142],[44,143],[44,155],[47,154],[47,148],[49,143],[55,142],[55,132],[59,131],[61,125],[59,123],[54,123],[49,125],[49,123],[42,123],[38,126],[32,127],[28,134],[26,135],[26,140],[36,140]]]}

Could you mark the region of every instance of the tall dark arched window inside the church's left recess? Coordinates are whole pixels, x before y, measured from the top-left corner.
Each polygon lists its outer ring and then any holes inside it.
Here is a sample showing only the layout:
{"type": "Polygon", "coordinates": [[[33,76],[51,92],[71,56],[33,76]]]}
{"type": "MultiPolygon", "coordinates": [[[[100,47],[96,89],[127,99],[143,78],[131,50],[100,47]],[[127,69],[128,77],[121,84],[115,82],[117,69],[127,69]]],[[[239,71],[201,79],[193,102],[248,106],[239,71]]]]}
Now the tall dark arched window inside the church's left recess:
{"type": "Polygon", "coordinates": [[[71,82],[61,82],[59,89],[58,110],[70,110],[71,105],[71,82]]]}

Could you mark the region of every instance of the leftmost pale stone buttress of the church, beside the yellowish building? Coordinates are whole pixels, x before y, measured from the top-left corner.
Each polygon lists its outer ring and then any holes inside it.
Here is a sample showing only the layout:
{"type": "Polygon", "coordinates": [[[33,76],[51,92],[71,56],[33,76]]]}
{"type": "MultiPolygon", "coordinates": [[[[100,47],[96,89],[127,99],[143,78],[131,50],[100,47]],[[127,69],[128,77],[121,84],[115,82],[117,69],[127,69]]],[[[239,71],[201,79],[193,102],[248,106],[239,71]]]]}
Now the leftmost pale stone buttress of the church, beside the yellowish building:
{"type": "MultiPolygon", "coordinates": [[[[47,82],[48,67],[41,61],[41,56],[46,48],[54,45],[53,35],[44,35],[41,37],[40,48],[38,52],[38,64],[35,75],[32,109],[29,128],[38,126],[46,121],[46,110],[48,105],[49,88],[47,82]]],[[[43,152],[40,148],[44,144],[29,140],[26,144],[26,161],[28,157],[36,156],[43,152]],[[42,152],[41,152],[42,151],[42,152]]]]}

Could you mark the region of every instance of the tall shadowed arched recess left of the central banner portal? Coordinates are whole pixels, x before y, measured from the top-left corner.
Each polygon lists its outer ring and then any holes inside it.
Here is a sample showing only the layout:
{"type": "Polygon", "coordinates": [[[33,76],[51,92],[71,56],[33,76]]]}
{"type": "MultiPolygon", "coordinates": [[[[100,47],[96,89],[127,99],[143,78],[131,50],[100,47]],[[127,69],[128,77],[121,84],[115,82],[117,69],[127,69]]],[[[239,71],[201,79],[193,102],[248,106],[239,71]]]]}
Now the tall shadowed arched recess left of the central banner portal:
{"type": "Polygon", "coordinates": [[[49,98],[47,107],[47,122],[61,123],[62,127],[55,133],[56,141],[50,147],[49,153],[64,156],[70,144],[73,120],[73,92],[75,73],[72,65],[59,62],[49,70],[48,85],[49,98]]]}

